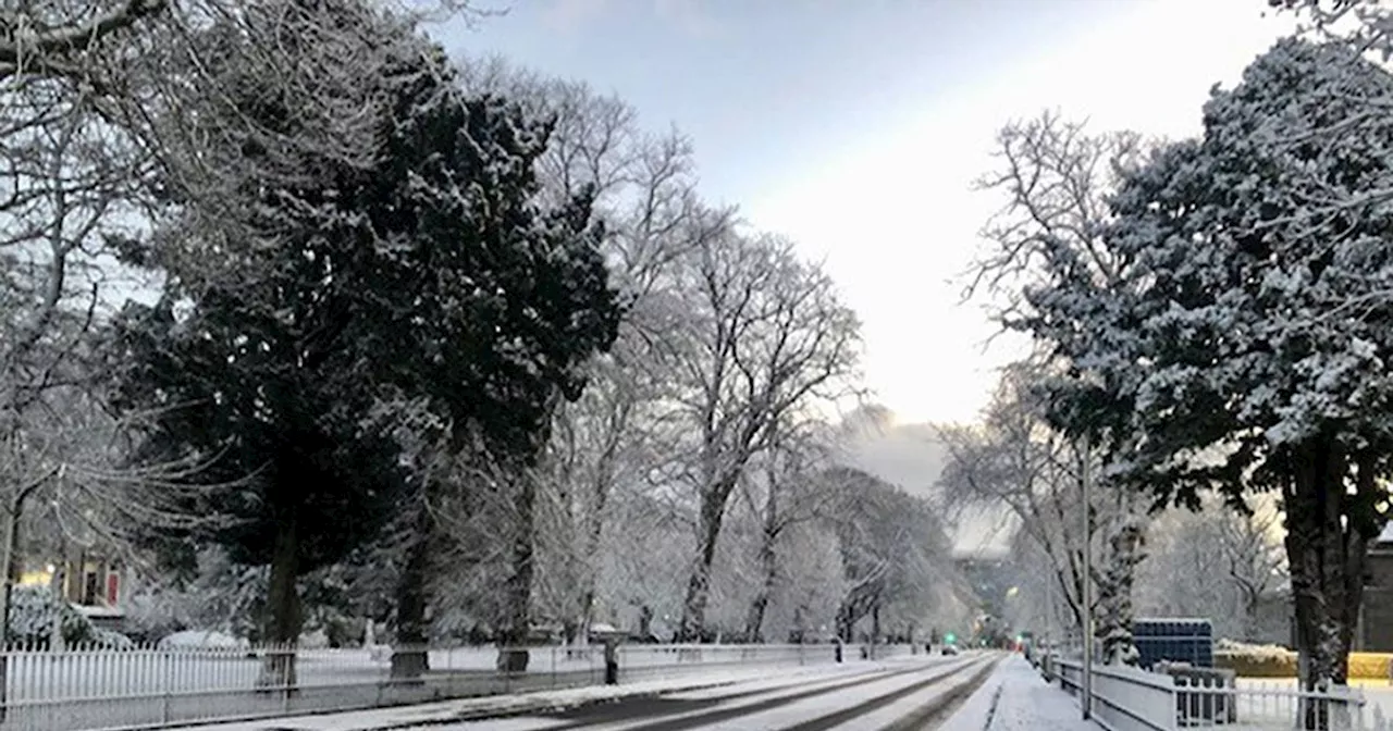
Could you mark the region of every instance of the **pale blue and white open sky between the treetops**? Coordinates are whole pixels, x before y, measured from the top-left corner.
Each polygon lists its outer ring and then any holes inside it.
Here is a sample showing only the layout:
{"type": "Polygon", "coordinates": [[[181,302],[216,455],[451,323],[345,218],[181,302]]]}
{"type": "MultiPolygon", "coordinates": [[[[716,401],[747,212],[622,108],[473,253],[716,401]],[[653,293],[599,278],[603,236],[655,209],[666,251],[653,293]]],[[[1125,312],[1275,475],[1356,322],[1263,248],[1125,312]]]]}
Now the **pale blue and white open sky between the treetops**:
{"type": "Polygon", "coordinates": [[[699,189],[822,260],[862,319],[892,433],[866,466],[924,489],[925,422],[974,420],[1017,358],[961,301],[1000,205],[972,181],[996,129],[1057,110],[1096,131],[1199,131],[1216,84],[1290,31],[1265,0],[476,0],[433,35],[456,54],[614,92],[687,132],[699,189]],[[988,343],[992,343],[988,347],[988,343]],[[897,425],[897,426],[896,426],[897,425]]]}

